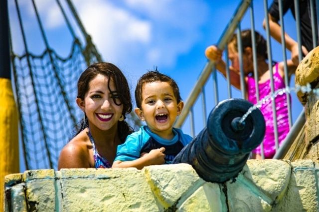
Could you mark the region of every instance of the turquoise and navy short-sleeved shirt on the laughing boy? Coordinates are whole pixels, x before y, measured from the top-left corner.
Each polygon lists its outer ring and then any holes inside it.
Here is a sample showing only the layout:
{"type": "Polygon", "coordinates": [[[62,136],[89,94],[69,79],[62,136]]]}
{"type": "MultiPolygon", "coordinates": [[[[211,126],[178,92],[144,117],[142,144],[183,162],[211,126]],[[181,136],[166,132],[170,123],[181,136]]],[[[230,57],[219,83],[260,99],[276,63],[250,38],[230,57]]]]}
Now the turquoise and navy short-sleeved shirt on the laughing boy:
{"type": "Polygon", "coordinates": [[[173,128],[173,133],[174,137],[166,140],[152,133],[148,126],[142,126],[138,132],[129,135],[124,144],[118,146],[114,161],[133,161],[140,158],[141,153],[164,147],[165,164],[171,164],[181,149],[192,140],[192,137],[180,129],[173,128]]]}

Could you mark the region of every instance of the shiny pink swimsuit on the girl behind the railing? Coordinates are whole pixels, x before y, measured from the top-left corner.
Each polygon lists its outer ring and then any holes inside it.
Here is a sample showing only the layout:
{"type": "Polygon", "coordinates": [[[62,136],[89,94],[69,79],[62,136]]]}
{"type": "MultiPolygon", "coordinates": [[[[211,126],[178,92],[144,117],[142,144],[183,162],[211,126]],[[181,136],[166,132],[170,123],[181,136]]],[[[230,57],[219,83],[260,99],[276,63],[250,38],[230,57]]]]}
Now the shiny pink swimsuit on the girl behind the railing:
{"type": "MultiPolygon", "coordinates": [[[[281,88],[285,88],[284,79],[278,72],[278,63],[275,65],[276,72],[274,73],[274,87],[275,91],[281,88]]],[[[256,86],[255,79],[253,76],[248,76],[247,79],[247,90],[248,90],[248,101],[253,104],[257,103],[256,100],[256,86]]],[[[266,82],[259,83],[259,97],[263,99],[265,96],[271,94],[270,79],[266,82]]],[[[288,106],[286,94],[278,95],[275,98],[276,103],[276,115],[277,115],[277,129],[278,129],[278,141],[279,144],[285,139],[289,132],[289,120],[288,120],[288,106]]],[[[263,141],[265,158],[272,158],[276,153],[275,146],[275,134],[274,134],[274,123],[273,123],[273,108],[272,101],[269,100],[263,104],[260,108],[264,115],[266,122],[266,132],[263,141]]],[[[261,155],[261,148],[258,146],[253,153],[261,155]]]]}

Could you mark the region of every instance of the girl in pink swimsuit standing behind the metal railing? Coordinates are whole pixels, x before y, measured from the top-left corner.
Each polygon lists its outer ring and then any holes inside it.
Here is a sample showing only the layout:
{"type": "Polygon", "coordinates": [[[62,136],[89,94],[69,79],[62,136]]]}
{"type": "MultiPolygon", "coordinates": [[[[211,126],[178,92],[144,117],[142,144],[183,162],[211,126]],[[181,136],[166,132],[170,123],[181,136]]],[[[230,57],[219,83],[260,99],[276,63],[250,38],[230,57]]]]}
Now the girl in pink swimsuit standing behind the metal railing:
{"type": "MultiPolygon", "coordinates": [[[[246,82],[246,96],[248,101],[256,104],[256,86],[255,79],[253,77],[254,66],[253,66],[253,51],[252,51],[252,40],[251,30],[243,30],[241,32],[242,47],[243,47],[243,70],[245,74],[246,82]]],[[[257,71],[258,71],[258,85],[259,85],[259,96],[260,99],[271,94],[270,85],[270,71],[267,62],[267,45],[265,38],[255,31],[256,37],[256,51],[257,51],[257,71]]],[[[226,64],[221,59],[222,50],[218,49],[217,46],[209,46],[205,55],[208,59],[215,61],[215,67],[224,76],[226,76],[226,64]]],[[[239,73],[239,57],[237,49],[237,35],[234,34],[228,43],[228,57],[231,60],[230,69],[230,82],[231,84],[240,89],[240,73],[239,73]]],[[[295,72],[296,66],[291,60],[287,60],[288,72],[290,76],[295,72]]],[[[285,87],[284,83],[284,62],[276,63],[272,70],[274,78],[275,90],[285,87]]],[[[287,107],[287,96],[279,95],[275,98],[276,103],[276,114],[278,124],[278,140],[279,144],[285,139],[289,132],[289,121],[288,121],[288,107],[287,107]]],[[[275,136],[274,136],[274,120],[273,110],[271,101],[263,104],[260,108],[264,114],[266,121],[266,132],[263,141],[265,158],[272,158],[275,155],[275,136]]],[[[260,146],[253,151],[253,158],[261,159],[260,146]]]]}

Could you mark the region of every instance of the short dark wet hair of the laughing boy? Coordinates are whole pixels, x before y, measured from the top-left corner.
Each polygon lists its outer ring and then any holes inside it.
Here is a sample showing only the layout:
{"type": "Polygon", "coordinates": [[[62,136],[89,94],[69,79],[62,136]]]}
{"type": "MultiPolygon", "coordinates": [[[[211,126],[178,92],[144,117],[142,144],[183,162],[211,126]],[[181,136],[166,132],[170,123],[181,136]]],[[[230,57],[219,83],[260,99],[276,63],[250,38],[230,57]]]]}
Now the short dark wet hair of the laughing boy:
{"type": "Polygon", "coordinates": [[[135,89],[135,100],[136,100],[136,105],[138,108],[142,109],[143,85],[145,83],[151,83],[151,82],[156,82],[156,81],[168,82],[170,87],[173,89],[173,93],[174,93],[174,96],[177,100],[177,104],[181,101],[180,94],[179,94],[179,88],[177,86],[177,83],[169,76],[160,73],[156,68],[154,71],[148,71],[138,80],[138,84],[137,84],[136,89],[135,89]]]}

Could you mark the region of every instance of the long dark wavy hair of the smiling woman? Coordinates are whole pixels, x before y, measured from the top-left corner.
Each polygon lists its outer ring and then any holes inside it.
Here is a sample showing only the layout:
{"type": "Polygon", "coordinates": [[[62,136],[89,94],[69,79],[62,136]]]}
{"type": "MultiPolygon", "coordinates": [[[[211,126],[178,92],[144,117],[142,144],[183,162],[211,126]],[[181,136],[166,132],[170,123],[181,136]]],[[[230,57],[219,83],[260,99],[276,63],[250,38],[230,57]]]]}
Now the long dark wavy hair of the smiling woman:
{"type": "MultiPolygon", "coordinates": [[[[116,91],[119,95],[120,103],[119,105],[123,104],[123,111],[122,115],[124,117],[123,121],[118,122],[118,135],[122,142],[125,141],[126,137],[130,135],[133,131],[132,127],[128,125],[128,123],[125,121],[126,114],[130,113],[132,111],[133,105],[132,105],[132,99],[131,99],[131,93],[129,84],[122,73],[122,71],[115,66],[112,63],[108,62],[97,62],[92,65],[90,65],[80,76],[78,80],[78,95],[77,97],[84,100],[85,94],[89,90],[89,83],[97,76],[97,75],[104,75],[108,77],[109,79],[113,79],[116,91]]],[[[108,81],[108,88],[110,89],[110,81],[108,81]]],[[[115,104],[117,104],[115,102],[115,104]]],[[[81,120],[80,122],[80,129],[75,134],[79,134],[82,130],[84,130],[86,127],[88,127],[88,120],[85,116],[84,120],[81,120]]]]}

